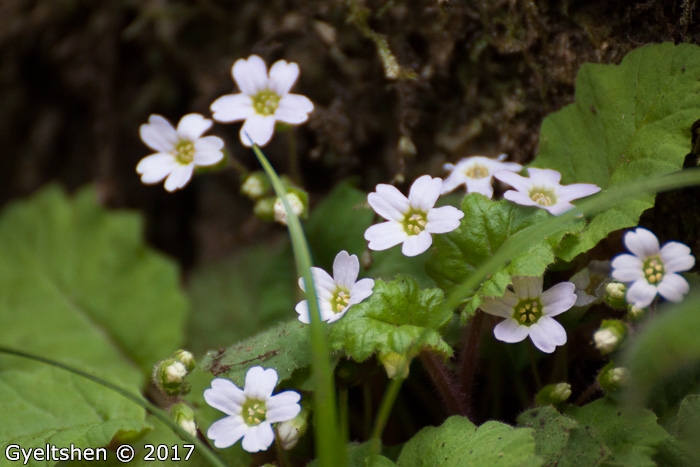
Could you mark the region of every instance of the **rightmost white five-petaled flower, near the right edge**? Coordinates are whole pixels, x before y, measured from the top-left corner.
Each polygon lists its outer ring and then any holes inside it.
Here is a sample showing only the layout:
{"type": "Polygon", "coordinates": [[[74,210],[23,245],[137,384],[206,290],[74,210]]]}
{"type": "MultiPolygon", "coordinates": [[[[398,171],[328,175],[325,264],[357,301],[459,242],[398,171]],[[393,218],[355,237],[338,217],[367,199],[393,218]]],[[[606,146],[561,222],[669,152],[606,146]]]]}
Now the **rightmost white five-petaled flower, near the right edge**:
{"type": "Polygon", "coordinates": [[[625,299],[628,303],[645,308],[658,292],[666,300],[680,302],[690,286],[678,272],[695,265],[690,248],[679,242],[668,242],[659,248],[656,235],[641,227],[627,232],[624,237],[629,254],[618,255],[612,261],[613,279],[631,284],[625,299]]]}

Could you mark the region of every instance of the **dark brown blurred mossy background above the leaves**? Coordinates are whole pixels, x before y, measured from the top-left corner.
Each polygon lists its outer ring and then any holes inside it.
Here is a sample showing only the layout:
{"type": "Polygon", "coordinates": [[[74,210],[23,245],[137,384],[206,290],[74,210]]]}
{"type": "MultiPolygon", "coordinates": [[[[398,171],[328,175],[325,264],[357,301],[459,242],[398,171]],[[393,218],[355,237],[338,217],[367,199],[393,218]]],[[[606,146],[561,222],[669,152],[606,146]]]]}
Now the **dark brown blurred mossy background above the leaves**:
{"type": "MultiPolygon", "coordinates": [[[[142,210],[151,243],[187,268],[280,230],[253,217],[233,171],[176,194],[135,173],[149,154],[139,125],[210,116],[238,58],[299,63],[294,92],[316,105],[296,130],[313,202],[349,177],[401,185],[474,154],[525,163],[582,63],[698,43],[698,13],[695,0],[0,0],[0,203],[95,183],[105,205],[142,210]]],[[[210,134],[254,169],[239,127],[210,134]]],[[[265,151],[289,169],[286,135],[265,151]]]]}

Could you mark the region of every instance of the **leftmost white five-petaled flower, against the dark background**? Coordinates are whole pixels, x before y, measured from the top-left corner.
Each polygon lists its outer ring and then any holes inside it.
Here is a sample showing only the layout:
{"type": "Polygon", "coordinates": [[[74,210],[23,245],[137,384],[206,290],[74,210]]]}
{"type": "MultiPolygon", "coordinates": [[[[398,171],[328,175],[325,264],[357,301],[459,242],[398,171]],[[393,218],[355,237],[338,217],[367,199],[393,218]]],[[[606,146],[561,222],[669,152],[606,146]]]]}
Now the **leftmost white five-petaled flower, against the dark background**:
{"type": "Polygon", "coordinates": [[[224,157],[221,138],[202,136],[212,123],[200,114],[187,114],[180,119],[176,130],[165,118],[151,115],[139,131],[146,146],[157,152],[144,157],[136,166],[141,181],[150,185],[165,179],[165,189],[172,192],[187,185],[195,166],[221,161],[224,157]]]}

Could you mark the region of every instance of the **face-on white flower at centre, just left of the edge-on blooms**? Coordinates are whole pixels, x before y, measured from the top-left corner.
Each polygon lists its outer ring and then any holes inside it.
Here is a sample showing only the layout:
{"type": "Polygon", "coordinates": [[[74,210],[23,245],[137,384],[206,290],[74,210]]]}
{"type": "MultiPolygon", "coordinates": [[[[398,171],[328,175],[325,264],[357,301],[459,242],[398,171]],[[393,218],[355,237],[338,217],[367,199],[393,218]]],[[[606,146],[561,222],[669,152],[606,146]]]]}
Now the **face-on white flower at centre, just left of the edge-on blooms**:
{"type": "Polygon", "coordinates": [[[416,256],[433,243],[430,234],[447,233],[459,227],[464,213],[453,206],[435,208],[442,179],[430,175],[419,177],[408,193],[408,199],[396,187],[379,184],[367,196],[370,206],[388,222],[373,225],[365,231],[371,250],[386,250],[403,243],[401,252],[416,256]]]}

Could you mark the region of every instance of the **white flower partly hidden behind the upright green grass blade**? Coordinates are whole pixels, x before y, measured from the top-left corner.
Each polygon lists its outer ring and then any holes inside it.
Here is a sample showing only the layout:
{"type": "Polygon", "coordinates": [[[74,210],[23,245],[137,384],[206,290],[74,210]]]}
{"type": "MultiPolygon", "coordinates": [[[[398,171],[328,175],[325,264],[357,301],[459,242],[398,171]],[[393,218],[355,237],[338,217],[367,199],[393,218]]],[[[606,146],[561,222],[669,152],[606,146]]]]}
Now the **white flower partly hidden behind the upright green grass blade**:
{"type": "MultiPolygon", "coordinates": [[[[355,255],[349,255],[343,250],[333,261],[333,277],[321,268],[311,268],[311,275],[316,284],[316,294],[321,311],[321,321],[332,323],[343,317],[351,305],[360,303],[372,295],[374,280],[357,280],[360,273],[360,260],[355,255]]],[[[304,279],[299,278],[299,287],[306,291],[304,279]]],[[[309,303],[307,300],[296,306],[299,321],[309,324],[309,303]]]]}

